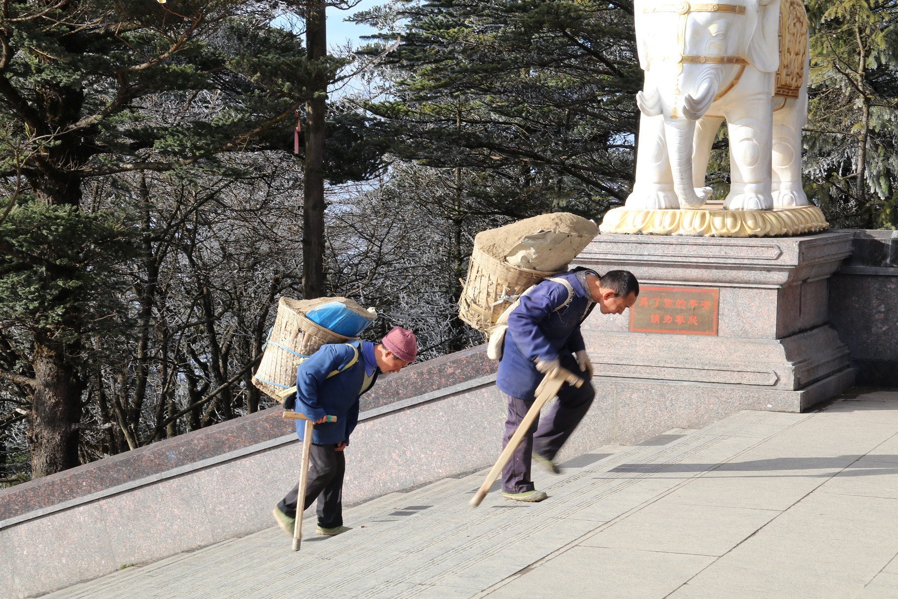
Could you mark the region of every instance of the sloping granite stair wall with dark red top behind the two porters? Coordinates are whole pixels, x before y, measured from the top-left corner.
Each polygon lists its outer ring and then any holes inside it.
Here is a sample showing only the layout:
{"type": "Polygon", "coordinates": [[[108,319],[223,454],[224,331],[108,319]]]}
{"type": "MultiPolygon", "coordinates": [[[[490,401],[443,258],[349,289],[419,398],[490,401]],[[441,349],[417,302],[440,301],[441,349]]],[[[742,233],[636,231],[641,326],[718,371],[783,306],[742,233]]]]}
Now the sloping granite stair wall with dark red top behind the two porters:
{"type": "MultiPolygon", "coordinates": [[[[383,376],[362,398],[344,502],[495,459],[505,402],[471,348],[383,376]]],[[[40,595],[125,564],[258,531],[297,480],[279,406],[0,490],[0,597],[40,595]]]]}

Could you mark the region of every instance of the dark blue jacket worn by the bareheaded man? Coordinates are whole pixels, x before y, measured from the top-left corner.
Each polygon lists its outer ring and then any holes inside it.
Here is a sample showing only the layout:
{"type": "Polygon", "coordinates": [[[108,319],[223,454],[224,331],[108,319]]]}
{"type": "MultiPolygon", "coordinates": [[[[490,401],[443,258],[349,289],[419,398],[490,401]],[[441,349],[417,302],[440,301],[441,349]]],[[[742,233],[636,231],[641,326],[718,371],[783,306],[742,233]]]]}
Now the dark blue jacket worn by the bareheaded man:
{"type": "Polygon", "coordinates": [[[508,315],[508,330],[499,360],[496,385],[512,397],[532,401],[543,374],[536,369],[536,361],[559,359],[585,349],[580,321],[593,303],[588,290],[580,284],[577,273],[568,271],[558,278],[566,278],[574,287],[570,304],[556,312],[568,301],[568,289],[560,283],[545,280],[508,315]]]}

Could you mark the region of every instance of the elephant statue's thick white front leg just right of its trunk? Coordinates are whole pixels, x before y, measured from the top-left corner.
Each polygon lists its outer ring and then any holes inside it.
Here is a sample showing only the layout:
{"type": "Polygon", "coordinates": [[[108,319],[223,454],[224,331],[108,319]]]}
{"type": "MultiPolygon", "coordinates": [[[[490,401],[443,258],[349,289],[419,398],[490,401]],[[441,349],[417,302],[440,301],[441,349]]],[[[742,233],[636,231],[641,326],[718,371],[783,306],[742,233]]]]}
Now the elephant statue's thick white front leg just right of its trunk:
{"type": "Polygon", "coordinates": [[[730,138],[730,192],[728,210],[766,210],[770,194],[773,107],[770,96],[757,94],[726,114],[730,138]]]}

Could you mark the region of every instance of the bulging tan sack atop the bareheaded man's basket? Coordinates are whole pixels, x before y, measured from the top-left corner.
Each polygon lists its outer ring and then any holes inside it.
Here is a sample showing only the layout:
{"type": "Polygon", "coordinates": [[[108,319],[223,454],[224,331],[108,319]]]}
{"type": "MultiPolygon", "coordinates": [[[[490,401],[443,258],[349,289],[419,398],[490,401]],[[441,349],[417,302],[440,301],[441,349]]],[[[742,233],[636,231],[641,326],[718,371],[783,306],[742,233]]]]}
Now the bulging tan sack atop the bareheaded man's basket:
{"type": "Polygon", "coordinates": [[[557,272],[598,233],[599,227],[583,216],[554,212],[478,233],[474,242],[481,251],[512,266],[557,272]]]}

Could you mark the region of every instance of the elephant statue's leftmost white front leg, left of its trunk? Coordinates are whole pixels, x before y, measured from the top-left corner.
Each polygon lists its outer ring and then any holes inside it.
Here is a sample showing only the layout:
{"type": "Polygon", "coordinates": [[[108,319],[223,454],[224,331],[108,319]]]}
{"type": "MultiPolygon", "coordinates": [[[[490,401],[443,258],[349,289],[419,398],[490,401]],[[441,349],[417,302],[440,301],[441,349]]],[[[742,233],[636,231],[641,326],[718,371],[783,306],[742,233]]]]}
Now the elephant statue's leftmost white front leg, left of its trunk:
{"type": "Polygon", "coordinates": [[[665,143],[665,118],[661,115],[639,119],[639,145],[636,153],[636,182],[627,198],[628,208],[665,210],[680,207],[674,193],[665,143]]]}

